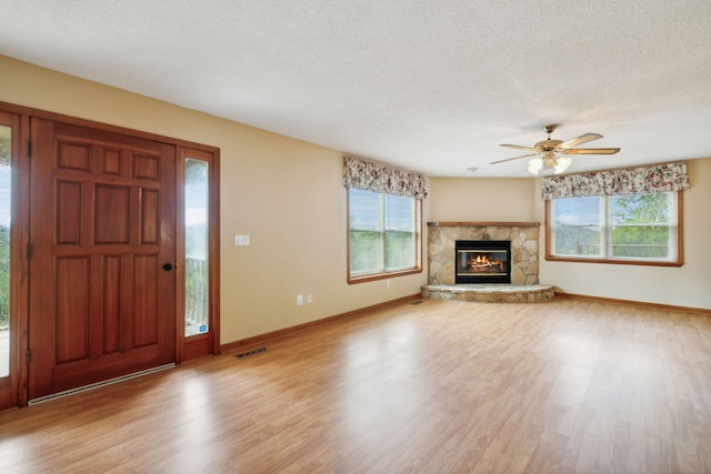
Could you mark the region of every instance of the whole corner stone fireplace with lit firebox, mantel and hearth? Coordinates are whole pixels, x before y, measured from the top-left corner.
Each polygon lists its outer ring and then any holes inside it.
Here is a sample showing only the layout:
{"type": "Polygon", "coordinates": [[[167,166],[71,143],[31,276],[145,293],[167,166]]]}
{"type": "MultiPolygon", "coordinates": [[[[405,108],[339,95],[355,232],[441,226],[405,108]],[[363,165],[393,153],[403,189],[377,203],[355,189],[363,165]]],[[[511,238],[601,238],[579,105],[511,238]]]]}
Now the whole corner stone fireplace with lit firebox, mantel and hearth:
{"type": "Polygon", "coordinates": [[[551,300],[553,286],[539,284],[539,228],[538,222],[428,222],[429,273],[422,296],[475,302],[551,300]],[[462,249],[462,242],[469,249],[462,249]]]}

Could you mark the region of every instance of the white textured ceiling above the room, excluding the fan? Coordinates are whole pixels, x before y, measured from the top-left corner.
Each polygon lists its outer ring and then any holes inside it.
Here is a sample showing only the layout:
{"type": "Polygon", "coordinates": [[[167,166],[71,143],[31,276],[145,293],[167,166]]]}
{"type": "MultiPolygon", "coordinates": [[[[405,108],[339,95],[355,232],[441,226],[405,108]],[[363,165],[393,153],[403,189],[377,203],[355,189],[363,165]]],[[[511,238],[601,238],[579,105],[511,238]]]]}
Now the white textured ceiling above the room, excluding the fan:
{"type": "Polygon", "coordinates": [[[428,175],[711,157],[709,0],[2,0],[0,53],[428,175]]]}

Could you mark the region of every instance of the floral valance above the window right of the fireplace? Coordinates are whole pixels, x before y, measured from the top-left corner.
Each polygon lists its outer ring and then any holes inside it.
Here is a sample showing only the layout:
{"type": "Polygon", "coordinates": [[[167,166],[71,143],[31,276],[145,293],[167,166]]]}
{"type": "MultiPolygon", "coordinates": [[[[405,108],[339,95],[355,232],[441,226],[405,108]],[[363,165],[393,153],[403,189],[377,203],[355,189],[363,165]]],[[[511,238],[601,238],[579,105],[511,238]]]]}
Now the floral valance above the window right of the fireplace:
{"type": "Polygon", "coordinates": [[[651,194],[689,188],[687,163],[543,178],[544,200],[589,195],[651,194]]]}

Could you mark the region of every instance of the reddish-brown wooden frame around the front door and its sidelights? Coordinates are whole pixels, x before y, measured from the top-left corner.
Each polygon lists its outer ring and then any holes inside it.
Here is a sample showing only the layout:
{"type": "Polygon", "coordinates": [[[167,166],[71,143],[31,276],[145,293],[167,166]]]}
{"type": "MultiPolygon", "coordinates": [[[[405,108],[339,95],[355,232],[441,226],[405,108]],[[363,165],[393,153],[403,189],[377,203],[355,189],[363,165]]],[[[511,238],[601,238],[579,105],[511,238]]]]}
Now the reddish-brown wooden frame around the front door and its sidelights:
{"type": "MultiPolygon", "coordinates": [[[[28,245],[30,243],[30,163],[31,163],[31,142],[30,142],[30,118],[39,118],[52,120],[57,122],[69,123],[73,125],[94,129],[98,131],[117,133],[121,135],[150,140],[161,143],[174,145],[177,149],[177,170],[176,173],[176,205],[177,205],[177,234],[176,234],[176,260],[179,271],[176,273],[176,363],[181,363],[190,359],[196,359],[209,354],[220,353],[220,149],[217,147],[194,143],[187,140],[164,137],[156,133],[133,130],[123,127],[110,125],[107,123],[94,122],[91,120],[79,119],[70,115],[63,115],[56,112],[49,112],[40,109],[28,108],[0,101],[0,112],[17,118],[19,123],[18,133],[13,133],[12,148],[12,167],[13,167],[13,202],[12,213],[13,225],[11,235],[11,259],[13,270],[11,276],[11,322],[10,327],[14,343],[11,343],[10,356],[10,380],[11,387],[10,397],[4,400],[0,391],[0,410],[12,406],[27,406],[28,382],[29,382],[29,260],[28,245]],[[14,138],[19,137],[19,143],[14,143],[14,138]],[[210,162],[210,239],[209,239],[209,311],[210,311],[210,331],[207,335],[199,339],[183,337],[184,326],[184,273],[182,262],[184,262],[184,216],[181,213],[183,203],[183,179],[184,179],[184,158],[187,155],[196,155],[198,159],[204,159],[210,162]],[[17,171],[16,171],[17,167],[17,171]],[[181,279],[181,275],[183,278],[181,279]],[[14,357],[14,361],[13,361],[14,357]],[[13,370],[16,373],[13,373],[13,370]]],[[[0,387],[1,389],[1,387],[0,387]]]]}

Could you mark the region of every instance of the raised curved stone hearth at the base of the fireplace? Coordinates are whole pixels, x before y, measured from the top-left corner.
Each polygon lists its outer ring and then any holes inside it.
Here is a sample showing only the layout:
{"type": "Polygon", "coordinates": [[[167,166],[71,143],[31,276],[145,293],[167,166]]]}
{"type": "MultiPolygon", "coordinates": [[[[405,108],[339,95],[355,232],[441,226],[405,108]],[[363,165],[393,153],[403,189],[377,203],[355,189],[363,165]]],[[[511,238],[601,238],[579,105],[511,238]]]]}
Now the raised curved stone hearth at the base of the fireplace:
{"type": "Polygon", "coordinates": [[[553,285],[458,284],[424,285],[422,297],[479,303],[542,303],[553,299],[553,285]]]}

